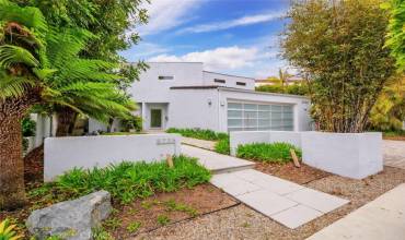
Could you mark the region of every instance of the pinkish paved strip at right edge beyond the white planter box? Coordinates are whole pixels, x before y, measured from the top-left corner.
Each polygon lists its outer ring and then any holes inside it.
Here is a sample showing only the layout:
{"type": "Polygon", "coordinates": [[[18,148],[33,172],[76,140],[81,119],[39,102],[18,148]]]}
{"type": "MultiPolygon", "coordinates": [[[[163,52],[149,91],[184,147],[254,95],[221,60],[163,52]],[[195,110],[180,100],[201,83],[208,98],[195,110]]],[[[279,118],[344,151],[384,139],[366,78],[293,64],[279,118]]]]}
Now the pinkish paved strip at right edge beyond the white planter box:
{"type": "Polygon", "coordinates": [[[384,165],[405,169],[405,141],[384,140],[383,149],[384,165]]]}

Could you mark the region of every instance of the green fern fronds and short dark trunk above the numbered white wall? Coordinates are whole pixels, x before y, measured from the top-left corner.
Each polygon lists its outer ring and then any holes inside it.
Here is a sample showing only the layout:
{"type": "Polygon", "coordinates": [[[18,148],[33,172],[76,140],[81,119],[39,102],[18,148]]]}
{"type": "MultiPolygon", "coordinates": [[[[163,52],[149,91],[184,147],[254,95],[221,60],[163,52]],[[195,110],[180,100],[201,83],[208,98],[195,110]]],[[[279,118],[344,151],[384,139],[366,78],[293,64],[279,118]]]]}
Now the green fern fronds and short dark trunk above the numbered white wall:
{"type": "Polygon", "coordinates": [[[117,87],[121,76],[113,73],[116,64],[79,57],[91,37],[85,31],[65,29],[47,45],[49,62],[58,69],[49,83],[59,94],[48,97],[43,107],[57,113],[57,136],[69,134],[78,113],[108,122],[114,117],[128,118],[136,109],[135,103],[117,87]],[[70,43],[72,36],[81,39],[74,48],[70,43]]]}

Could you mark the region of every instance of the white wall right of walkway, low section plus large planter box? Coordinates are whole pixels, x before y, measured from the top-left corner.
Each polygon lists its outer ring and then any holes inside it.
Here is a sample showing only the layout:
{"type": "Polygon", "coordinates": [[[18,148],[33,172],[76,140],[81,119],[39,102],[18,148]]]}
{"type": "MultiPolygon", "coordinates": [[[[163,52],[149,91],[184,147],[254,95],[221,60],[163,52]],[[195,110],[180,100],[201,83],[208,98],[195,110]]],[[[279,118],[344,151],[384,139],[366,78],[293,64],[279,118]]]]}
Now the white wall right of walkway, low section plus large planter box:
{"type": "Polygon", "coordinates": [[[231,155],[239,145],[287,142],[302,148],[302,161],[343,177],[362,179],[383,169],[381,132],[231,132],[231,155]]]}

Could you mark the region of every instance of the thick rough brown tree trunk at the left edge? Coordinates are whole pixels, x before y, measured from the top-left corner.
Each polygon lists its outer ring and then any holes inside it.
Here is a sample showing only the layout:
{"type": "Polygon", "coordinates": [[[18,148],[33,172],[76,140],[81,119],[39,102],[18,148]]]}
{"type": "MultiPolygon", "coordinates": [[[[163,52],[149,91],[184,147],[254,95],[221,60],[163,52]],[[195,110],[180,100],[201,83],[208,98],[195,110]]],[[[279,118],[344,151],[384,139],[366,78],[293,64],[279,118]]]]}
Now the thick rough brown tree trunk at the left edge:
{"type": "Polygon", "coordinates": [[[39,101],[39,91],[0,100],[0,209],[14,209],[26,202],[21,119],[39,101]]]}

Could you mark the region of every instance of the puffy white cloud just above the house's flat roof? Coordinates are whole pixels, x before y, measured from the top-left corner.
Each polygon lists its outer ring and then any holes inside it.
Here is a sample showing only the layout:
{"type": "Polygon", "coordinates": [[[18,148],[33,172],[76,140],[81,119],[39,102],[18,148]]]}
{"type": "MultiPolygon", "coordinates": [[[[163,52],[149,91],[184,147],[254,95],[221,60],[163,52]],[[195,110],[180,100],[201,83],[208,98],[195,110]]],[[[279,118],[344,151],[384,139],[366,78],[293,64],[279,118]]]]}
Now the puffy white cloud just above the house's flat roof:
{"type": "Polygon", "coordinates": [[[257,48],[221,47],[205,51],[188,52],[183,56],[159,55],[149,61],[158,62],[204,62],[205,70],[235,70],[252,67],[258,59],[257,48]]]}

